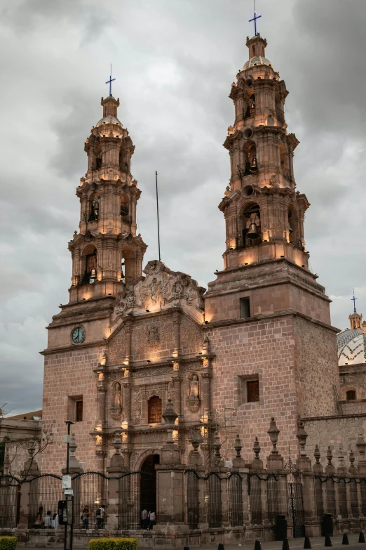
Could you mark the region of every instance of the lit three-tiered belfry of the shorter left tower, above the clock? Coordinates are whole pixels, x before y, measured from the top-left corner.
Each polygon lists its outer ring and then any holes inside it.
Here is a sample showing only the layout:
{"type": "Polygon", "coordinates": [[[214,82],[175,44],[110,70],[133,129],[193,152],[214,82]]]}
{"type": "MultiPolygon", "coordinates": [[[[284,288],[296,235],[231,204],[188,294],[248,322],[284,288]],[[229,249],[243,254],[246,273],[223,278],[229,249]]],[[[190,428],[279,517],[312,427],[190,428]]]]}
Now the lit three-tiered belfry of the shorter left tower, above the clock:
{"type": "Polygon", "coordinates": [[[109,96],[101,103],[103,118],[85,142],[88,171],[76,189],[81,208],[79,233],[69,243],[70,302],[116,295],[124,282],[141,277],[147,248],[136,235],[141,191],[130,173],[135,147],[117,118],[119,100],[109,96]]]}

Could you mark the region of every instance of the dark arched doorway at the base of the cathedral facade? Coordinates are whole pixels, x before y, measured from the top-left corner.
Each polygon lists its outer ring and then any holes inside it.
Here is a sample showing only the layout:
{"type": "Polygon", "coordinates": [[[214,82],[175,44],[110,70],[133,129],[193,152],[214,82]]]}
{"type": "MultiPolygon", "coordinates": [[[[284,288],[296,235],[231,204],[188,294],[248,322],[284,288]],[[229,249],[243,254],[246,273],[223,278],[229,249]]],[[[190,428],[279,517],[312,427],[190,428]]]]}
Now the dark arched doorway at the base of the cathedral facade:
{"type": "Polygon", "coordinates": [[[156,470],[155,465],[159,464],[158,454],[150,454],[141,466],[140,477],[140,506],[141,506],[141,527],[152,529],[156,523],[156,470]],[[155,522],[149,520],[149,512],[154,513],[155,522]],[[145,517],[146,516],[146,517],[145,517]]]}

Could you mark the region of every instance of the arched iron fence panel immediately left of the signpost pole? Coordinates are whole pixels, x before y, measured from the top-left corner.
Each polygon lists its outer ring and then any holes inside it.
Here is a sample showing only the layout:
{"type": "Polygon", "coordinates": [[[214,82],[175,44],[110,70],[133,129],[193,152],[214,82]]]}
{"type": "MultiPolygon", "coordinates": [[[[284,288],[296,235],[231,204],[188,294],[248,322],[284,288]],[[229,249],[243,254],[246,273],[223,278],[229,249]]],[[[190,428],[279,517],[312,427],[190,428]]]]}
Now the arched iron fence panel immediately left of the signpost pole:
{"type": "Polygon", "coordinates": [[[58,501],[64,498],[62,478],[44,473],[29,483],[29,528],[57,529],[58,501]]]}

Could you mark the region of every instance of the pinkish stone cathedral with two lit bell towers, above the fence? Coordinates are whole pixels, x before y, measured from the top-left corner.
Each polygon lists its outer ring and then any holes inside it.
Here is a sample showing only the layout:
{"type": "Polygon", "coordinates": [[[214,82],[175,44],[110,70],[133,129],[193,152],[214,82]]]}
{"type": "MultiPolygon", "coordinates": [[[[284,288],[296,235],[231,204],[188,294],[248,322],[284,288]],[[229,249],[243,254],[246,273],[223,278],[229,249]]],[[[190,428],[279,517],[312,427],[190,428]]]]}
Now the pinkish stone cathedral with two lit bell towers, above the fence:
{"type": "Polygon", "coordinates": [[[299,141],[287,131],[288,92],[266,57],[266,39],[256,34],[246,45],[224,140],[231,176],[218,200],[224,261],[207,290],[161,261],[142,268],[147,244],[137,234],[135,147],[118,119],[118,99],[102,98],[76,189],[69,303],[48,325],[42,352],[42,423],[53,444],[39,455],[41,471],[64,466],[65,420],[74,422],[85,470],[106,471],[116,433],[126,468],[154,468],[169,398],[182,463],[198,433],[207,470],[215,431],[226,461],[237,434],[249,461],[255,436],[260,440],[275,417],[287,456],[289,445],[297,452],[299,419],[339,414],[338,331],[330,299],[309,270],[310,204],[295,183],[299,141]]]}

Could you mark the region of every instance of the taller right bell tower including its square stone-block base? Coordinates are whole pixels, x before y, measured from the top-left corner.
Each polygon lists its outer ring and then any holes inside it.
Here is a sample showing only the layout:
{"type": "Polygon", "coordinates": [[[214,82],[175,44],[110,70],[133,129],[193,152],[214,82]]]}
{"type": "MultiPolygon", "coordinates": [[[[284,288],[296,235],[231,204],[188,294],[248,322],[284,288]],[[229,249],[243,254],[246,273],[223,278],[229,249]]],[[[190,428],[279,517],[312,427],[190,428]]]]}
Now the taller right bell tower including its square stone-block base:
{"type": "Polygon", "coordinates": [[[249,59],[231,84],[235,119],[224,142],[231,176],[219,204],[224,269],[205,294],[205,326],[217,354],[213,408],[237,410],[240,437],[249,445],[263,417],[280,417],[295,446],[299,417],[337,414],[336,330],[330,299],[309,270],[310,205],[296,190],[299,141],[287,131],[285,82],[266,58],[266,39],[256,34],[246,45],[249,59]]]}

